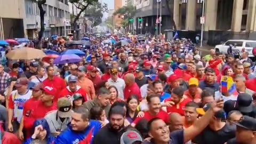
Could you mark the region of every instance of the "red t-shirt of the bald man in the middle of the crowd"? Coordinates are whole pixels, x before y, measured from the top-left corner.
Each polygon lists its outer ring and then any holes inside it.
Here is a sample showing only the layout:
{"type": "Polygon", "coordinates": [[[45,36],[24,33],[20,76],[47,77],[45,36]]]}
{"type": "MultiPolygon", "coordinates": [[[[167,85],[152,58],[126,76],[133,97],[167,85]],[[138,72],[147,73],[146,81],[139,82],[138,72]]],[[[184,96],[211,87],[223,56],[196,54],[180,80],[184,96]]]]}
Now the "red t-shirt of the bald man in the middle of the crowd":
{"type": "Polygon", "coordinates": [[[141,93],[140,93],[140,87],[136,84],[133,83],[131,86],[125,86],[124,87],[124,99],[127,100],[128,98],[131,97],[131,95],[137,95],[139,99],[141,100],[141,93]]]}

